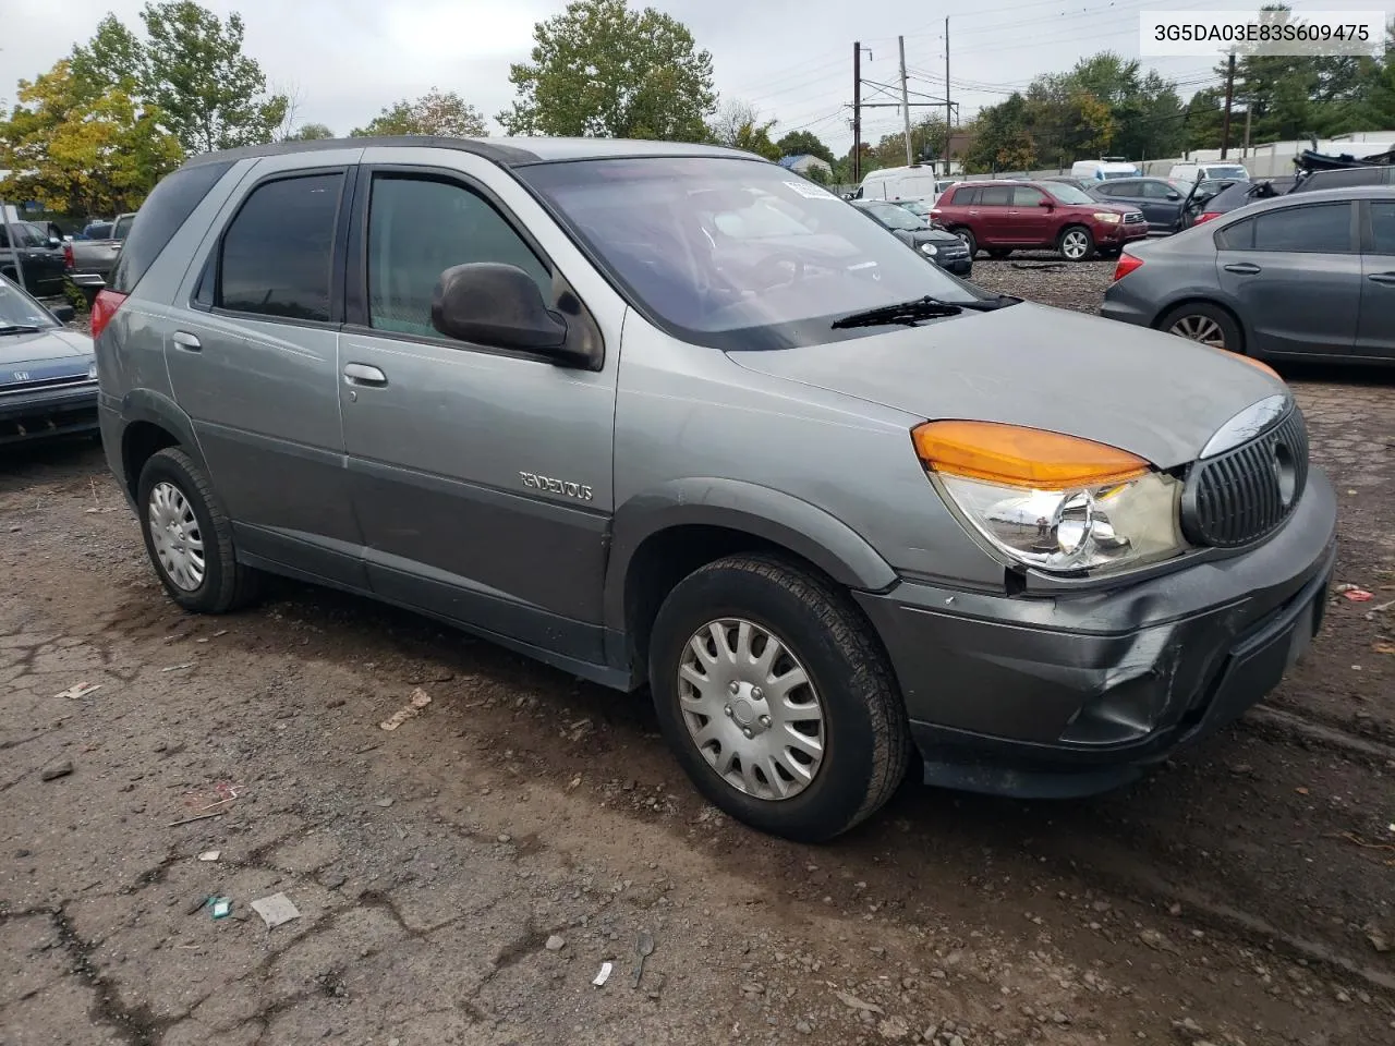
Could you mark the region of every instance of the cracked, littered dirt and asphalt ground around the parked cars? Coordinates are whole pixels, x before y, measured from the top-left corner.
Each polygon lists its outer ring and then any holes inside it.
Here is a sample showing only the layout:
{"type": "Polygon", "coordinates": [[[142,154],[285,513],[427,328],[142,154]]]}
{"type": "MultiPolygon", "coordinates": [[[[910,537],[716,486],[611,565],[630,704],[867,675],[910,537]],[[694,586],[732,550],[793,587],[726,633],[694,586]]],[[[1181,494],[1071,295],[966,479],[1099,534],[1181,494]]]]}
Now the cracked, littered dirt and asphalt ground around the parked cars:
{"type": "MultiPolygon", "coordinates": [[[[1112,271],[1032,264],[975,279],[1112,271]]],[[[1395,375],[1286,377],[1374,598],[1127,791],[911,781],[823,848],[704,805],[644,700],[413,615],[184,615],[96,446],[8,452],[0,1046],[1395,1042],[1395,375]]]]}

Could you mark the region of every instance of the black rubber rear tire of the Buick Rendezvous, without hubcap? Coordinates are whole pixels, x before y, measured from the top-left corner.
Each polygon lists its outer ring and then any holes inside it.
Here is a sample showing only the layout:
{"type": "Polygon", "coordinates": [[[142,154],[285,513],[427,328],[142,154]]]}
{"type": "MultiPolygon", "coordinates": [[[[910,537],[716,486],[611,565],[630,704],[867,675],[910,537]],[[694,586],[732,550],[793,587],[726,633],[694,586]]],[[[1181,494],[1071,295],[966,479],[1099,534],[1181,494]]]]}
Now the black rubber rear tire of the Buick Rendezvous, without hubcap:
{"type": "Polygon", "coordinates": [[[151,565],[165,591],[180,607],[197,614],[226,614],[255,598],[258,575],[237,562],[232,523],[213,497],[208,477],[187,453],[172,446],[151,455],[137,484],[137,515],[151,565]],[[176,582],[155,549],[151,498],[160,484],[170,484],[184,498],[197,523],[197,536],[204,545],[204,575],[194,587],[176,582]]]}

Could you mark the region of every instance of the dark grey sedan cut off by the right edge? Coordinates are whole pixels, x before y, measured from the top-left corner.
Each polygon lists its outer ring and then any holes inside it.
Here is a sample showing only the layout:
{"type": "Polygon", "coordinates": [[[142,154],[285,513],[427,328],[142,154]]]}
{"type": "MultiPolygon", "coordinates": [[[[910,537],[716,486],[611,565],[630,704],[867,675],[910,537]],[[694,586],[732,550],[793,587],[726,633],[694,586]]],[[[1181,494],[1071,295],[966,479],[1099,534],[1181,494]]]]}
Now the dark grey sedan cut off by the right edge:
{"type": "Polygon", "coordinates": [[[1276,197],[1130,247],[1101,312],[1260,358],[1395,363],[1395,187],[1276,197]]]}

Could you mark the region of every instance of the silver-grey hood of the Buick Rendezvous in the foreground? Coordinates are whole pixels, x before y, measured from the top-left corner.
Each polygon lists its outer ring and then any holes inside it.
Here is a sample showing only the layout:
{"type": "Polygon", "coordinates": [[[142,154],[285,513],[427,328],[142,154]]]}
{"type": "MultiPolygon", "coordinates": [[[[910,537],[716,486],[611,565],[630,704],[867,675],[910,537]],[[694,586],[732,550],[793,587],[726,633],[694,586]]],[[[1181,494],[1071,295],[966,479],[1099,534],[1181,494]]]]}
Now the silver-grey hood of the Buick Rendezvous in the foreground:
{"type": "Polygon", "coordinates": [[[731,358],[914,418],[1064,432],[1161,469],[1196,460],[1226,421],[1283,391],[1282,382],[1219,349],[1030,303],[731,358]]]}

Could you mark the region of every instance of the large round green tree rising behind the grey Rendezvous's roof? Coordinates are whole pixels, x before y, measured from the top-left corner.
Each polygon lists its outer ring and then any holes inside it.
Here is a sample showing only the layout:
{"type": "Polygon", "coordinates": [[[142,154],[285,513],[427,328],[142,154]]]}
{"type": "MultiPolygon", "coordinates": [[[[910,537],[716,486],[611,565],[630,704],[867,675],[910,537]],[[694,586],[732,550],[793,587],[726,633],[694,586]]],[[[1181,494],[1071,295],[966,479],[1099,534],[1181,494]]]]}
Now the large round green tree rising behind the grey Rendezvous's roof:
{"type": "Polygon", "coordinates": [[[518,91],[498,114],[509,134],[703,141],[717,105],[711,54],[688,28],[625,0],[572,0],[533,28],[529,63],[509,67],[518,91]]]}

